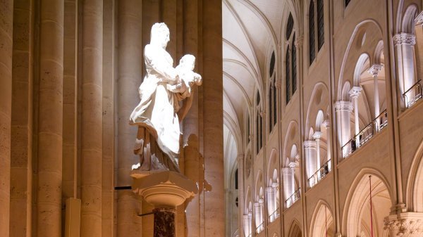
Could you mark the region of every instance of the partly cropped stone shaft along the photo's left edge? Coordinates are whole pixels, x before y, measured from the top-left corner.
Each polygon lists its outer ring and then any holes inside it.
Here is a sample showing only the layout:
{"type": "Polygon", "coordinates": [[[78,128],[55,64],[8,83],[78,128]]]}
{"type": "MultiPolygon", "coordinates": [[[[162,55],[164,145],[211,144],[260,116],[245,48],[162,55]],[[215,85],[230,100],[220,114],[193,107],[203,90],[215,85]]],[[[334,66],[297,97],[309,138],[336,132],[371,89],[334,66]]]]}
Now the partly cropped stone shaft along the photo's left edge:
{"type": "Polygon", "coordinates": [[[0,1],[0,229],[9,236],[13,0],[0,1]]]}

